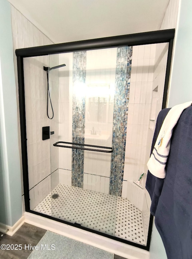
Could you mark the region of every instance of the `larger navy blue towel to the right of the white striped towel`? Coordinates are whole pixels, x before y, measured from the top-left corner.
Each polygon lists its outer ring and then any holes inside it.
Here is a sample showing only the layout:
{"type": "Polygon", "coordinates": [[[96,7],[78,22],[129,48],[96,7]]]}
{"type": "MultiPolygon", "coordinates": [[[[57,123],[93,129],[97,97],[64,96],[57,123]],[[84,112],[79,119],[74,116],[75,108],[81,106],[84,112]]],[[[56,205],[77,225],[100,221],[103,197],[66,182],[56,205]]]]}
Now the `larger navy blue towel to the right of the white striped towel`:
{"type": "MultiPolygon", "coordinates": [[[[156,182],[153,179],[149,184],[150,180],[149,176],[146,187],[153,197],[156,182]]],[[[182,112],[173,129],[166,177],[161,187],[158,204],[155,205],[155,225],[164,243],[167,258],[191,259],[192,106],[182,112]]]]}

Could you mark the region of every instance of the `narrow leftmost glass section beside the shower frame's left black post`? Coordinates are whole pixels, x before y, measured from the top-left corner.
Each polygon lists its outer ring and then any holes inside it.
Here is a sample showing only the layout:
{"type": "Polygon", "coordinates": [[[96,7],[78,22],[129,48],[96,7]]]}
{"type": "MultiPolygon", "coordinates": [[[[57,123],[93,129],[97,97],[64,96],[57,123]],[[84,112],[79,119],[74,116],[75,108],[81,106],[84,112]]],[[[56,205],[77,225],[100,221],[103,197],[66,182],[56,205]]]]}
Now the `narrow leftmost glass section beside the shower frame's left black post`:
{"type": "Polygon", "coordinates": [[[47,77],[44,66],[48,56],[24,58],[27,156],[30,209],[51,215],[50,139],[47,138],[47,77]],[[45,140],[43,140],[45,129],[45,140]],[[46,199],[46,207],[41,202],[46,199]]]}

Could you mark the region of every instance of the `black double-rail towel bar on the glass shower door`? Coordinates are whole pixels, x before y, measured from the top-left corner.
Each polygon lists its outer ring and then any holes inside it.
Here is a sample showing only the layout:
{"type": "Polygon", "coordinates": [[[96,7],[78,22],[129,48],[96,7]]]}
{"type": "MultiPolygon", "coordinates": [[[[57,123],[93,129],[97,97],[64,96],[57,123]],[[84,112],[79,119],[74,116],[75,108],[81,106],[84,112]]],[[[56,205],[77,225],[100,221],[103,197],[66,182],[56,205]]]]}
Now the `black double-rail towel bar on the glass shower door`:
{"type": "Polygon", "coordinates": [[[104,152],[104,153],[112,153],[113,147],[102,147],[102,146],[95,146],[95,145],[88,145],[88,144],[82,144],[82,143],[73,143],[73,142],[65,142],[65,141],[58,141],[53,144],[54,147],[66,147],[66,148],[74,148],[74,149],[82,149],[82,150],[89,150],[89,151],[97,151],[97,152],[104,152]],[[97,147],[97,148],[103,148],[103,149],[109,149],[109,150],[100,150],[100,149],[92,149],[92,148],[85,148],[85,147],[74,147],[74,146],[63,146],[59,144],[72,144],[72,145],[79,145],[79,146],[86,146],[86,147],[97,147]]]}

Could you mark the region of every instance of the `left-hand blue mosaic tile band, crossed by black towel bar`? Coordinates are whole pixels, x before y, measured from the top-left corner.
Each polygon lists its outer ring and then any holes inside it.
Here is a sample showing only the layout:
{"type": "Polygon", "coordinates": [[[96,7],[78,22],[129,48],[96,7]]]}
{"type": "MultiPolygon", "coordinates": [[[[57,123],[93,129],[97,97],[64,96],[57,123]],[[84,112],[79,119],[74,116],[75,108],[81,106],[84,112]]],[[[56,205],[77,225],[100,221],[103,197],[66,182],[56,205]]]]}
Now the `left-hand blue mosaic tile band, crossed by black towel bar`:
{"type": "MultiPolygon", "coordinates": [[[[72,141],[85,141],[85,96],[82,95],[86,78],[86,51],[73,52],[73,118],[72,141]]],[[[72,149],[72,186],[83,188],[84,150],[72,149]]]]}

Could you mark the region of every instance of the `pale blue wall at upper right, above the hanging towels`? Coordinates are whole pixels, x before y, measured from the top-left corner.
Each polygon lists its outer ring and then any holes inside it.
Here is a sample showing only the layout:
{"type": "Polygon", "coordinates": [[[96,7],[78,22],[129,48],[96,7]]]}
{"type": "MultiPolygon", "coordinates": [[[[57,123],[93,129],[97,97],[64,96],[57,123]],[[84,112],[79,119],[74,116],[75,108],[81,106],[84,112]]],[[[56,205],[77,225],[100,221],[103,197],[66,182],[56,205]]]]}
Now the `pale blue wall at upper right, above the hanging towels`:
{"type": "Polygon", "coordinates": [[[181,0],[168,107],[192,100],[192,1],[181,0]]]}

